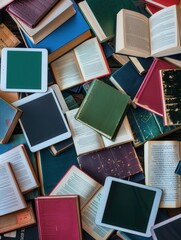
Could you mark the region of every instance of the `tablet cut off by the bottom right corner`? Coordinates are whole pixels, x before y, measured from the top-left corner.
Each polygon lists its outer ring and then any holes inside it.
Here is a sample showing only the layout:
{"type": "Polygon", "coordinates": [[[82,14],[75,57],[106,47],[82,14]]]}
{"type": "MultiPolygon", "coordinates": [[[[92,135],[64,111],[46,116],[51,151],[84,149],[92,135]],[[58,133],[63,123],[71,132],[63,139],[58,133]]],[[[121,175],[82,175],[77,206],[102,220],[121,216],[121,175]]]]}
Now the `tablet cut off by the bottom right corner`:
{"type": "Polygon", "coordinates": [[[181,214],[155,224],[151,228],[153,240],[180,240],[181,214]]]}

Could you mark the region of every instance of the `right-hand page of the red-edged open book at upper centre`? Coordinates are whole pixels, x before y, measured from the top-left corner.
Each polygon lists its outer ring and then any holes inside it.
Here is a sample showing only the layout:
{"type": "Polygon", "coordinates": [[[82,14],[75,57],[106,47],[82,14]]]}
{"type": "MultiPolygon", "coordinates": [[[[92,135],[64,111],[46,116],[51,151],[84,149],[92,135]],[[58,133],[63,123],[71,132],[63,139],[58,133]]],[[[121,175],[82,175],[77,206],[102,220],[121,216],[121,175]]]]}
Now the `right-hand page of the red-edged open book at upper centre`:
{"type": "Polygon", "coordinates": [[[109,73],[97,38],[91,38],[74,49],[84,81],[109,73]]]}

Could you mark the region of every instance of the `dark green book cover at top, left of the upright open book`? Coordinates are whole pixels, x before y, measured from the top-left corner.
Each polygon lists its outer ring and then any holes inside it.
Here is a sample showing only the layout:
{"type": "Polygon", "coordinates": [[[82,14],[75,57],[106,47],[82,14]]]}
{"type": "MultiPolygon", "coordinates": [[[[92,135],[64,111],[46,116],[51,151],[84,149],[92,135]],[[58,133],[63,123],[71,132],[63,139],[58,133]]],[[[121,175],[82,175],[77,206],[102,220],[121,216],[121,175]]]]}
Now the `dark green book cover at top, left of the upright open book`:
{"type": "MultiPolygon", "coordinates": [[[[116,14],[119,10],[124,8],[138,11],[132,0],[85,0],[85,2],[108,38],[115,35],[116,14]]],[[[87,18],[85,13],[84,15],[87,18]]]]}

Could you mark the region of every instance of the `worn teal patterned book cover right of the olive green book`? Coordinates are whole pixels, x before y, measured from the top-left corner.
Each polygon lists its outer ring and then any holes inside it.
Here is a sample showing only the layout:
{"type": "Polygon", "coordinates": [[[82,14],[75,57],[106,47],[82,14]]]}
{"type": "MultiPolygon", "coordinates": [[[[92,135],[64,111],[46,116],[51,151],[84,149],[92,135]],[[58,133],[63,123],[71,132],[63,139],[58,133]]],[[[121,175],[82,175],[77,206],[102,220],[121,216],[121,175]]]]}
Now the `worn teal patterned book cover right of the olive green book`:
{"type": "Polygon", "coordinates": [[[143,145],[148,140],[166,136],[180,128],[179,126],[164,126],[161,116],[141,107],[131,106],[127,117],[133,132],[135,147],[143,145]]]}

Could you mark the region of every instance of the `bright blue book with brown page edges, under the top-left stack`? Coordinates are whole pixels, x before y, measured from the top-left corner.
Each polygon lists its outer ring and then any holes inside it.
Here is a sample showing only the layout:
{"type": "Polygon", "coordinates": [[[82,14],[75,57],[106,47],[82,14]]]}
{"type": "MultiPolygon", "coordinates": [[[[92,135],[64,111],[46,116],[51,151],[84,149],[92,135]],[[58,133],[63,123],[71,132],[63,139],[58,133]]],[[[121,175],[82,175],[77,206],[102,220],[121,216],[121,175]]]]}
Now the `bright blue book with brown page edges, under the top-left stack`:
{"type": "Polygon", "coordinates": [[[76,14],[37,44],[33,44],[28,36],[20,30],[27,47],[46,48],[49,53],[49,62],[51,62],[91,37],[90,27],[75,2],[73,6],[76,14]],[[54,56],[57,51],[59,53],[54,56]]]}

